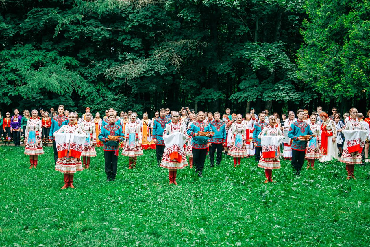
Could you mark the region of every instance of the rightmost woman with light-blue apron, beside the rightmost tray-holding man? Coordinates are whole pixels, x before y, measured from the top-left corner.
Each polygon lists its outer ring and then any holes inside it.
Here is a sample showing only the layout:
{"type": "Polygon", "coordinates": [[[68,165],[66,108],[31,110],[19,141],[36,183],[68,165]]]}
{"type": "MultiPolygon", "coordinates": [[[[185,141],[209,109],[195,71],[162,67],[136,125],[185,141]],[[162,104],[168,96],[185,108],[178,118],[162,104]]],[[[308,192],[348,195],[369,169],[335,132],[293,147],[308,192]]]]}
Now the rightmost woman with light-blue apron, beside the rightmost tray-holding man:
{"type": "Polygon", "coordinates": [[[319,138],[320,126],[316,123],[316,116],[310,116],[310,123],[308,124],[312,131],[313,135],[316,135],[316,139],[311,139],[307,141],[306,155],[305,159],[307,160],[307,169],[310,167],[314,170],[315,159],[320,159],[321,155],[321,141],[319,138]]]}

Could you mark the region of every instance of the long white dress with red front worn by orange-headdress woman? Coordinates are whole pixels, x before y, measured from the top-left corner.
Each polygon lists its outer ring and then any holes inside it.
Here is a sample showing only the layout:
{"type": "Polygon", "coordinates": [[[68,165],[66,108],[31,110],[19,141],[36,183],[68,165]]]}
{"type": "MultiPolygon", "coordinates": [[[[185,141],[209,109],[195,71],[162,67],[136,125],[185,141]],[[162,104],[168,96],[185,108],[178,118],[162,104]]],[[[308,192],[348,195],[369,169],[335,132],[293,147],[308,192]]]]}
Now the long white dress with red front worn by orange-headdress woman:
{"type": "Polygon", "coordinates": [[[335,122],[332,119],[329,119],[329,123],[327,125],[324,125],[324,123],[321,124],[320,131],[319,131],[319,139],[321,141],[321,154],[322,157],[319,159],[320,162],[324,161],[331,161],[332,159],[339,160],[338,155],[338,148],[337,143],[333,142],[333,136],[337,136],[337,128],[335,126],[335,122]],[[322,136],[322,129],[326,129],[326,131],[332,131],[332,136],[327,136],[327,154],[325,155],[323,152],[323,136],[322,136]]]}

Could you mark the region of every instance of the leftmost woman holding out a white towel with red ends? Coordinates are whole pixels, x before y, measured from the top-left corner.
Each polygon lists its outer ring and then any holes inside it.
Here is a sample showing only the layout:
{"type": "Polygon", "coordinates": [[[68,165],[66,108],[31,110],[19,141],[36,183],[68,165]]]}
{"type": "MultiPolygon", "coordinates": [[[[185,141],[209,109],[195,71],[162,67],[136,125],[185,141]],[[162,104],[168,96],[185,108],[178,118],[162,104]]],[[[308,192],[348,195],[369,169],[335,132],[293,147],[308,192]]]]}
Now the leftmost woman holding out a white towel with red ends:
{"type": "Polygon", "coordinates": [[[87,137],[80,126],[75,124],[76,115],[70,112],[68,125],[61,126],[53,132],[55,145],[57,146],[58,159],[55,163],[55,171],[64,174],[64,186],[74,188],[73,177],[76,171],[82,171],[81,152],[84,141],[87,137]]]}

